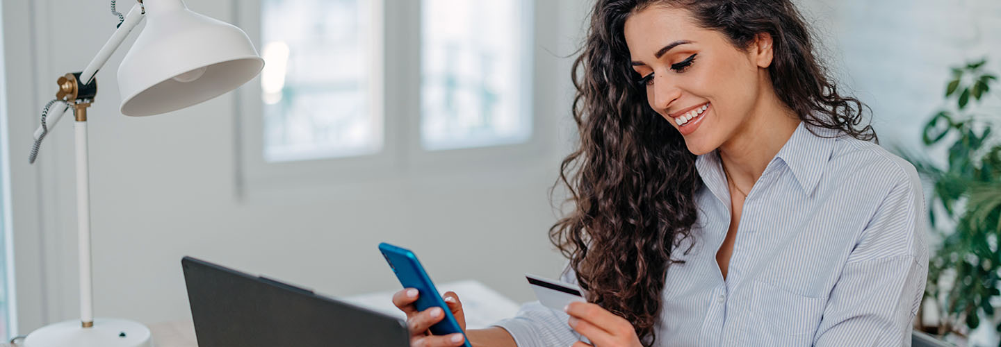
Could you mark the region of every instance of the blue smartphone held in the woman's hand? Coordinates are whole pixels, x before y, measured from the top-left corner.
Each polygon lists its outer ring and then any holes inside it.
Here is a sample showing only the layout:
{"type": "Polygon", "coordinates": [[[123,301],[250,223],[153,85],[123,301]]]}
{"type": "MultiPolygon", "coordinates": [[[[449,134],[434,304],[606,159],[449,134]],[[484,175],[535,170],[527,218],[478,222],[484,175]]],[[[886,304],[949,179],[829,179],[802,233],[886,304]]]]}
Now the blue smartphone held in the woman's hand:
{"type": "MultiPolygon", "coordinates": [[[[389,263],[389,268],[392,269],[392,272],[396,273],[399,284],[402,284],[403,288],[417,289],[419,296],[413,305],[418,311],[423,311],[434,306],[440,307],[441,311],[444,311],[444,319],[430,327],[431,334],[447,335],[462,332],[462,329],[458,327],[458,322],[455,321],[455,317],[451,315],[448,305],[441,299],[441,295],[434,288],[434,283],[427,276],[424,267],[420,266],[420,261],[417,260],[417,256],[413,252],[385,242],[378,244],[378,250],[382,252],[382,256],[389,263]]],[[[465,334],[462,334],[462,336],[465,336],[465,334]]],[[[462,342],[462,346],[472,347],[469,345],[468,337],[462,342]]]]}

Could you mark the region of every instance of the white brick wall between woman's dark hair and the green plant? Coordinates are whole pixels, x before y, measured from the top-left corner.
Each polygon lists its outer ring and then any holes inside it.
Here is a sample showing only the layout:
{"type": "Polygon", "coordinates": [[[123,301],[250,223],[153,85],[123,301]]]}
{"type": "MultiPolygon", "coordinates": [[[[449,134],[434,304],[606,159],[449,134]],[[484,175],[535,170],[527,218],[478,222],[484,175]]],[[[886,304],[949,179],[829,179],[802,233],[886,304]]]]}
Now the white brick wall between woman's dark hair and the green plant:
{"type": "Polygon", "coordinates": [[[841,85],[872,107],[884,145],[922,148],[922,128],[945,106],[950,67],[987,57],[987,68],[1001,73],[999,1],[797,2],[841,85]]]}

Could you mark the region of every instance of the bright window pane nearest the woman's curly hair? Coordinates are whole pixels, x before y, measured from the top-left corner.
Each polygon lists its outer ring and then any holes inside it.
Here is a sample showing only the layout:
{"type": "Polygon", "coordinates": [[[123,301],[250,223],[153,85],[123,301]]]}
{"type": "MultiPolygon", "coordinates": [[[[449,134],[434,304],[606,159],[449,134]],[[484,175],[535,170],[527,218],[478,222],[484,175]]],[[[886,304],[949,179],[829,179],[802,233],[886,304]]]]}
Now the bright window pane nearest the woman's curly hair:
{"type": "Polygon", "coordinates": [[[426,149],[524,142],[532,133],[525,0],[424,0],[420,139],[426,149]]]}

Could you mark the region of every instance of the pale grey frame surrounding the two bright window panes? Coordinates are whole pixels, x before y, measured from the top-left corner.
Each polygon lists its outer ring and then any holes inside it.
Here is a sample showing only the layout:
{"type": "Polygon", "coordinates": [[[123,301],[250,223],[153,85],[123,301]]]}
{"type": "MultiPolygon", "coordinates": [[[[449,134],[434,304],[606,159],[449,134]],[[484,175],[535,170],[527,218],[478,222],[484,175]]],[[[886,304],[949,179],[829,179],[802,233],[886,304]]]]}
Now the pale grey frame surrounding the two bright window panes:
{"type": "MultiPolygon", "coordinates": [[[[260,1],[234,1],[237,25],[243,28],[256,47],[260,42],[260,1]]],[[[362,0],[364,1],[364,0],[362,0]]],[[[559,85],[557,78],[570,76],[546,75],[537,71],[554,71],[556,57],[552,51],[541,47],[558,46],[557,33],[561,23],[557,20],[540,20],[544,14],[556,18],[558,5],[548,1],[524,1],[524,25],[530,29],[523,31],[526,49],[523,62],[527,69],[523,77],[527,85],[523,91],[522,108],[530,112],[531,134],[524,142],[482,147],[426,150],[420,139],[420,59],[422,4],[411,0],[373,0],[374,12],[381,14],[373,19],[376,23],[373,36],[376,37],[374,50],[379,68],[375,72],[375,83],[380,95],[373,110],[381,110],[383,123],[382,149],[374,154],[323,158],[314,160],[265,162],[263,160],[263,120],[260,101],[259,77],[241,87],[237,95],[237,116],[234,122],[237,158],[237,194],[244,198],[255,196],[288,197],[282,192],[302,191],[320,188],[325,192],[340,192],[344,189],[361,189],[371,186],[399,182],[413,177],[439,175],[467,175],[484,172],[510,170],[511,168],[556,167],[551,160],[551,149],[557,147],[555,119],[558,110],[552,102],[540,100],[561,99],[564,95],[541,97],[538,91],[553,93],[559,85]],[[381,53],[381,54],[378,54],[381,53]],[[541,115],[554,115],[544,117],[541,115]],[[329,188],[323,190],[324,188],[329,188]]],[[[531,170],[531,169],[525,169],[531,170]]]]}

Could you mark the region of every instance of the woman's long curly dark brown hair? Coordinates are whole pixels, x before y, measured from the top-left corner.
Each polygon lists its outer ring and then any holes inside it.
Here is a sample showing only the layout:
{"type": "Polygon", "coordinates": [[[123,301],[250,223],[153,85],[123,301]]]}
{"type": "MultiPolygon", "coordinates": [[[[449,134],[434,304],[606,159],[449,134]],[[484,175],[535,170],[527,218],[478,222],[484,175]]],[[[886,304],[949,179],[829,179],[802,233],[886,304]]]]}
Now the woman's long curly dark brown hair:
{"type": "Polygon", "coordinates": [[[549,233],[588,300],[632,322],[646,346],[657,339],[665,276],[679,262],[672,252],[692,236],[704,184],[685,139],[635,83],[623,28],[651,5],[686,9],[738,48],[771,35],[768,72],[780,99],[810,125],[878,142],[863,115],[868,108],[838,93],[790,0],[599,0],[573,67],[580,144],[554,186],[566,185],[573,209],[549,233]]]}

